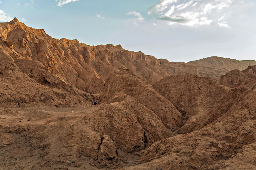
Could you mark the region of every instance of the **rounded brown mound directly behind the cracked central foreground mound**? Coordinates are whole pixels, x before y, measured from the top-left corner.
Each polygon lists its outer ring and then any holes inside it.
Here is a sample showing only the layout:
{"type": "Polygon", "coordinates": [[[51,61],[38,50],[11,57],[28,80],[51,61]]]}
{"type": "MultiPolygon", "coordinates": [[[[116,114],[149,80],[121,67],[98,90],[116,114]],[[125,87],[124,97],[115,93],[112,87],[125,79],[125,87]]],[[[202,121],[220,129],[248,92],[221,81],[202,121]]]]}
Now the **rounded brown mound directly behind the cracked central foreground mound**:
{"type": "Polygon", "coordinates": [[[131,98],[129,100],[152,110],[168,129],[176,130],[182,126],[181,114],[170,101],[156,92],[148,82],[134,75],[131,70],[119,68],[106,81],[99,102],[117,102],[123,95],[128,95],[131,98]]]}

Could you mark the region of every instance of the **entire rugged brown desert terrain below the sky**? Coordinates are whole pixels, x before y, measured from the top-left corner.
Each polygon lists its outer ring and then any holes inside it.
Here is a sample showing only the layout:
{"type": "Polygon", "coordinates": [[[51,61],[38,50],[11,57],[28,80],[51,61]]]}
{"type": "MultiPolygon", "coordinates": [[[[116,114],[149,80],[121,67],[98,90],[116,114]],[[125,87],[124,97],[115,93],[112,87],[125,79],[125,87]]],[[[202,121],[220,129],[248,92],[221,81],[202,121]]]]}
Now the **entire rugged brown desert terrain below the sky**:
{"type": "Polygon", "coordinates": [[[256,61],[0,36],[0,169],[256,169],[256,61]]]}

